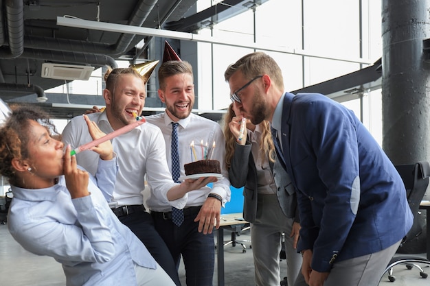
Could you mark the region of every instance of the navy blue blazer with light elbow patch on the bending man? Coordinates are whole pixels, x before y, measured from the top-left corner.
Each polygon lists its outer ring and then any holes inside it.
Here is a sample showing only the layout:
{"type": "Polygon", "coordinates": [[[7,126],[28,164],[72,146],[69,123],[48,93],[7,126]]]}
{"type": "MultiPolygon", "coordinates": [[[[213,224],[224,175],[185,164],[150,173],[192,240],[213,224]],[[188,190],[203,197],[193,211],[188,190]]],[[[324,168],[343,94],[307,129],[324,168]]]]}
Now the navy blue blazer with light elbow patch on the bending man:
{"type": "Polygon", "coordinates": [[[286,93],[281,126],[302,226],[297,250],[313,250],[314,270],[406,235],[413,215],[403,180],[354,112],[324,95],[286,93]]]}

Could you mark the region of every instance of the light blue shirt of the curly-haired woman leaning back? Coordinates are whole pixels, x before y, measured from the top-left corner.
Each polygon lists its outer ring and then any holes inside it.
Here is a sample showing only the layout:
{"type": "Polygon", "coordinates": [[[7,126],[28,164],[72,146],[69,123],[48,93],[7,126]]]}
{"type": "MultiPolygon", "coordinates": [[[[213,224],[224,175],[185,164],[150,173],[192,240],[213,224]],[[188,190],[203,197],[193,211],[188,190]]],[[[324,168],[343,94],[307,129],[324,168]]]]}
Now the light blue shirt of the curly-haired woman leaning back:
{"type": "MultiPolygon", "coordinates": [[[[106,166],[109,181],[116,165],[106,166]]],[[[64,176],[45,189],[11,189],[10,234],[25,250],[61,263],[67,285],[136,285],[135,263],[157,267],[144,244],[115,217],[95,181],[89,180],[90,195],[76,199],[64,176]]]]}

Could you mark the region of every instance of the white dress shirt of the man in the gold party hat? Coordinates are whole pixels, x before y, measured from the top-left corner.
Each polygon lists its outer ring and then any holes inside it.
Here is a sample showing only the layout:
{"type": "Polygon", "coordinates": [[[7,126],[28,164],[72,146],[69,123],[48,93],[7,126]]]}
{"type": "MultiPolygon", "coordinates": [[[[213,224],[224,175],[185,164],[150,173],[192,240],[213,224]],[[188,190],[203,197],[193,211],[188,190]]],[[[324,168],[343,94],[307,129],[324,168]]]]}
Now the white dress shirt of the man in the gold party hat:
{"type": "MultiPolygon", "coordinates": [[[[106,112],[95,112],[88,117],[91,121],[95,121],[104,133],[113,132],[106,112]]],[[[82,116],[74,117],[67,123],[63,131],[63,141],[73,148],[92,141],[87,123],[82,116]]],[[[167,192],[176,183],[172,180],[166,162],[166,147],[159,128],[150,123],[144,123],[112,139],[112,145],[113,151],[118,156],[119,170],[110,205],[143,204],[145,174],[157,199],[168,204],[167,192]]],[[[98,157],[97,153],[90,150],[76,154],[78,164],[91,174],[97,170],[98,157]]]]}

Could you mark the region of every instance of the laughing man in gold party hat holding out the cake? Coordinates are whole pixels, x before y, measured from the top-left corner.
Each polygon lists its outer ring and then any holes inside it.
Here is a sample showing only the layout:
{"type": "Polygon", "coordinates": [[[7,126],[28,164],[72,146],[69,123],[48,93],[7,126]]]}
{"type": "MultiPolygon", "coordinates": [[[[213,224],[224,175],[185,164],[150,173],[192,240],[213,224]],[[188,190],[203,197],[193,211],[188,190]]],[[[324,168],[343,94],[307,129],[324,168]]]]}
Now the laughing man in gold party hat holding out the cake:
{"type": "MultiPolygon", "coordinates": [[[[97,123],[100,130],[106,134],[135,122],[137,115],[140,115],[144,108],[146,82],[157,63],[158,61],[148,62],[108,71],[104,77],[106,88],[103,91],[106,109],[89,114],[89,119],[97,123]]],[[[63,131],[63,141],[69,143],[72,148],[91,141],[81,116],[71,119],[67,124],[63,131]]],[[[159,128],[150,123],[144,123],[115,137],[112,139],[112,145],[118,157],[118,172],[115,189],[106,200],[113,213],[139,237],[174,283],[181,285],[171,254],[155,230],[151,215],[144,208],[144,177],[146,175],[148,184],[159,195],[160,200],[168,200],[168,195],[175,198],[177,193],[199,189],[211,180],[187,181],[182,184],[173,182],[166,163],[163,137],[159,128]]],[[[95,173],[98,164],[103,163],[98,154],[91,150],[76,154],[76,158],[78,165],[91,174],[95,173]]]]}

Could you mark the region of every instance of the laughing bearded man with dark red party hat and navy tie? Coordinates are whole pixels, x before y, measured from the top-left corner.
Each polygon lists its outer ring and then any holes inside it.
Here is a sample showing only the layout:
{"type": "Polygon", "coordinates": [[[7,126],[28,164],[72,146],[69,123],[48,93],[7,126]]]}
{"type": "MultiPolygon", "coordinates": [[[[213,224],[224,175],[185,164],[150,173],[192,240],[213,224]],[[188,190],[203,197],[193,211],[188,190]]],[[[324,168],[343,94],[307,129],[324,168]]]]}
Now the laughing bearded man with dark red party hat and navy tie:
{"type": "Polygon", "coordinates": [[[219,227],[221,207],[230,200],[230,183],[223,162],[223,131],[218,123],[191,113],[194,105],[192,67],[190,63],[181,61],[167,42],[158,79],[158,94],[161,102],[166,104],[166,112],[151,115],[146,120],[158,126],[163,133],[174,180],[179,182],[178,177],[185,176],[184,164],[207,159],[205,154],[220,161],[223,178],[218,178],[212,188],[202,187],[185,193],[177,200],[161,201],[155,195],[157,190],[152,189],[146,204],[154,217],[155,228],[166,242],[177,267],[183,257],[187,286],[212,285],[215,252],[212,230],[214,225],[219,227]],[[177,141],[172,132],[176,133],[177,141]],[[192,141],[201,150],[194,152],[194,157],[199,154],[196,158],[190,157],[192,141]],[[177,172],[173,167],[175,162],[177,172]]]}

